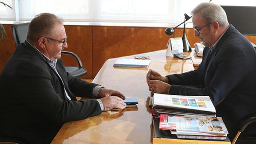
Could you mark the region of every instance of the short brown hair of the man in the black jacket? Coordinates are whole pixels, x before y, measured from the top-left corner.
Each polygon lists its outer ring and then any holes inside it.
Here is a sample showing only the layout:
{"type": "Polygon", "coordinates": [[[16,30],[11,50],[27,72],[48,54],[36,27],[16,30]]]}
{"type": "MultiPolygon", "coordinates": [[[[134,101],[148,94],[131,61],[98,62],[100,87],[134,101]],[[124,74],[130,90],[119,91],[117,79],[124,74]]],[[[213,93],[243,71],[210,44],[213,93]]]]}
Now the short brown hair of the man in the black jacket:
{"type": "Polygon", "coordinates": [[[63,23],[63,19],[51,13],[36,15],[29,24],[27,40],[35,42],[42,36],[52,37],[57,23],[63,23]]]}

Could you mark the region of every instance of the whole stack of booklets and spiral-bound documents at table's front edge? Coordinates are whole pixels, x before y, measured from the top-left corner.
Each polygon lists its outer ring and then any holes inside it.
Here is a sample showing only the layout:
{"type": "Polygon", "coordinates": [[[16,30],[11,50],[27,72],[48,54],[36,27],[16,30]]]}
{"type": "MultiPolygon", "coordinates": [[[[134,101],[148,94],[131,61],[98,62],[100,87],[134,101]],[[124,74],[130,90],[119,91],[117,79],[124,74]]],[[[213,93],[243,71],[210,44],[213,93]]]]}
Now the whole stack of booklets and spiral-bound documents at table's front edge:
{"type": "MultiPolygon", "coordinates": [[[[165,95],[154,93],[151,97],[152,117],[157,120],[158,134],[172,141],[203,140],[228,142],[227,128],[209,96],[165,95]],[[168,136],[167,136],[168,135],[168,136]]],[[[156,127],[156,126],[155,126],[156,127]]],[[[193,141],[191,141],[193,142],[193,141]]],[[[185,141],[184,141],[185,143],[185,141]]],[[[207,142],[208,143],[208,142],[207,142]]]]}

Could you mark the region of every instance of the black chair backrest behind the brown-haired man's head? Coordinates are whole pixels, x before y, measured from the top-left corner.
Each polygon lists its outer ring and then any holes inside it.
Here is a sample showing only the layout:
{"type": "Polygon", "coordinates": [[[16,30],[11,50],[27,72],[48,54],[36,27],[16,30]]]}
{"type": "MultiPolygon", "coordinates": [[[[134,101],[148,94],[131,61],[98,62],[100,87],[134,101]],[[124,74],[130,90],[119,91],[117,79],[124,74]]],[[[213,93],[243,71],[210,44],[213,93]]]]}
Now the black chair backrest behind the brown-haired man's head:
{"type": "Polygon", "coordinates": [[[27,38],[27,34],[29,30],[29,22],[22,23],[22,24],[13,24],[12,29],[13,29],[15,45],[16,47],[18,47],[18,45],[24,42],[27,38]]]}

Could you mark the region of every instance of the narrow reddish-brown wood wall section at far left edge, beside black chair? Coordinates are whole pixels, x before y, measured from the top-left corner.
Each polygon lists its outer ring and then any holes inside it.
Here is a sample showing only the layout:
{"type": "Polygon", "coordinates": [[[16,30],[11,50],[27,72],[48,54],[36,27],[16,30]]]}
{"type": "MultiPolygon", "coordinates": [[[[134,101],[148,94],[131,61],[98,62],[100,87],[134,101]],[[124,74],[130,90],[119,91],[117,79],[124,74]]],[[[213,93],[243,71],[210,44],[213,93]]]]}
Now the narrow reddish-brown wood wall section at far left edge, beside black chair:
{"type": "Polygon", "coordinates": [[[6,31],[6,40],[3,43],[0,43],[0,73],[3,70],[3,67],[6,61],[15,51],[15,42],[13,38],[13,31],[11,24],[3,24],[3,27],[6,31]]]}

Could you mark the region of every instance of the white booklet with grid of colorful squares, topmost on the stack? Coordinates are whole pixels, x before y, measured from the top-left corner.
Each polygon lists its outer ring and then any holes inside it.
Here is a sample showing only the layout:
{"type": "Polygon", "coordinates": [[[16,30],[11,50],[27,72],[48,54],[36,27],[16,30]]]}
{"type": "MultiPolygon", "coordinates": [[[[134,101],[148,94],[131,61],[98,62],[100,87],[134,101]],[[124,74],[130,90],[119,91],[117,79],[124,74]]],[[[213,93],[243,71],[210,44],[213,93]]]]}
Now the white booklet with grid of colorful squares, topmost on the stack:
{"type": "Polygon", "coordinates": [[[216,110],[209,96],[183,96],[154,93],[155,114],[215,116],[216,110]]]}

